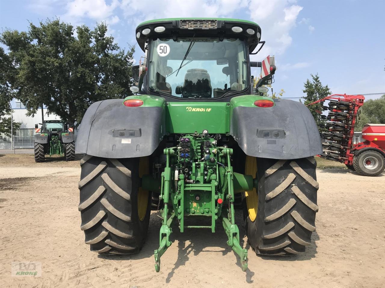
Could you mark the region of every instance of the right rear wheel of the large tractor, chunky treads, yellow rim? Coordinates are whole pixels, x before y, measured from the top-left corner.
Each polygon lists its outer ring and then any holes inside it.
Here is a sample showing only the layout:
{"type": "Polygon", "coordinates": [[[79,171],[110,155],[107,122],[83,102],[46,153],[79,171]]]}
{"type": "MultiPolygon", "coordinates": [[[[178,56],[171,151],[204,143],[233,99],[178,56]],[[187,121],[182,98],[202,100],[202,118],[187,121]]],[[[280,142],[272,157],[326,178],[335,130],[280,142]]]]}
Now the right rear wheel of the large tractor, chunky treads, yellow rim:
{"type": "Polygon", "coordinates": [[[318,211],[314,157],[247,156],[245,168],[245,174],[258,177],[258,192],[254,189],[243,195],[246,235],[253,251],[262,255],[304,252],[318,211]]]}

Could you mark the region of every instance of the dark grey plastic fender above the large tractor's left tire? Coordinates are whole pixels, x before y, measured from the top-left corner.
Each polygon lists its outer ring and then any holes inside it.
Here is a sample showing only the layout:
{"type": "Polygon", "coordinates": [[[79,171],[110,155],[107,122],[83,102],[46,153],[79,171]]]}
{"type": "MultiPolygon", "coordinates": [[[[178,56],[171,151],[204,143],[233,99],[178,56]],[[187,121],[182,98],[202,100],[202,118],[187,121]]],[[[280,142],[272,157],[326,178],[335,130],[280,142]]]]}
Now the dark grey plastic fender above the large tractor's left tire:
{"type": "Polygon", "coordinates": [[[104,158],[149,156],[166,134],[164,107],[126,107],[123,99],[93,103],[79,126],[75,150],[104,158]]]}

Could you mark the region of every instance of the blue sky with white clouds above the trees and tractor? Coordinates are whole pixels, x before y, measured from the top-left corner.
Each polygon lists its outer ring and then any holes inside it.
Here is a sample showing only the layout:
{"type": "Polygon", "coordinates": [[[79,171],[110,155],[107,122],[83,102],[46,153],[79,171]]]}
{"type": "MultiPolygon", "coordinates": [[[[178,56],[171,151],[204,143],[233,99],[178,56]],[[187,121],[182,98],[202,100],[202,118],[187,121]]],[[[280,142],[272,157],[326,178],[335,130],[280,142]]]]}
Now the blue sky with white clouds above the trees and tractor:
{"type": "MultiPolygon", "coordinates": [[[[252,60],[275,55],[274,91],[295,98],[310,73],[333,93],[385,93],[384,11],[384,0],[0,0],[0,28],[26,30],[28,21],[55,16],[73,25],[105,21],[125,48],[136,44],[137,24],[154,18],[252,20],[266,40],[252,60]]],[[[136,60],[141,55],[137,47],[136,60]]]]}

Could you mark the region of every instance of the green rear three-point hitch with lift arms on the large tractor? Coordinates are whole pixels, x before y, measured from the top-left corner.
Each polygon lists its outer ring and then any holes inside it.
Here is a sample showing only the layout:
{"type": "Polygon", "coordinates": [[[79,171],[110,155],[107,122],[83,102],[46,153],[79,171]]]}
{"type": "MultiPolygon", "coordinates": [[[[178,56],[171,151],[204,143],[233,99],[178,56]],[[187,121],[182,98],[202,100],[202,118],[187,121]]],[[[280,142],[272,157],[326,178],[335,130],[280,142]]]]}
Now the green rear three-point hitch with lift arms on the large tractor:
{"type": "Polygon", "coordinates": [[[184,134],[177,147],[164,149],[166,167],[161,174],[163,200],[159,248],[154,251],[155,270],[160,271],[160,258],[171,246],[171,225],[178,221],[185,228],[209,228],[215,232],[220,218],[228,236],[227,244],[241,257],[241,268],[247,269],[247,250],[239,243],[239,229],[234,217],[234,182],[236,192],[253,190],[256,181],[250,175],[233,172],[233,149],[218,147],[217,141],[202,134],[184,134]],[[235,176],[234,176],[235,174],[235,176]]]}

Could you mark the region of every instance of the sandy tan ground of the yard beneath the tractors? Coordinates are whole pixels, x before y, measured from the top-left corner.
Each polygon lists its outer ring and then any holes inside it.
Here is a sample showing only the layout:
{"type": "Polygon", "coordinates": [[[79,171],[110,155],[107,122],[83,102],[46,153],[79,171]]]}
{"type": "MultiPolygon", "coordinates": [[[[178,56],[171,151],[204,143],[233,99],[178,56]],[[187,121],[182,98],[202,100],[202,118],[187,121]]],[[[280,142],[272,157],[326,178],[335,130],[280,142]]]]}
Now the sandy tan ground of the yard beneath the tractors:
{"type": "Polygon", "coordinates": [[[174,229],[160,273],[153,260],[157,212],[141,253],[89,251],[77,209],[79,176],[78,161],[0,155],[0,287],[385,287],[385,174],[318,170],[317,230],[304,254],[258,257],[250,249],[242,272],[221,228],[174,229]],[[42,262],[42,276],[12,277],[13,261],[42,262]]]}

